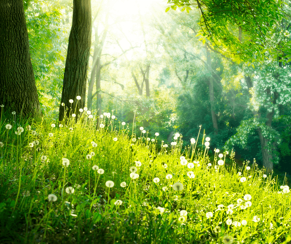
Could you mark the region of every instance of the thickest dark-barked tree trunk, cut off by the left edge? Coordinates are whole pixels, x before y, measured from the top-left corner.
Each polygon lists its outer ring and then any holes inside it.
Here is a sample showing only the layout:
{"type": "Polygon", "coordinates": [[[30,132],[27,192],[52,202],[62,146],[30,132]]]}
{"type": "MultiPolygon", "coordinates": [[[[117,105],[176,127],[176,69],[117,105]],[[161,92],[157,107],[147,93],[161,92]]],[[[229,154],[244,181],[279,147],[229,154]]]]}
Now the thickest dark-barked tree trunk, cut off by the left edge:
{"type": "Polygon", "coordinates": [[[0,105],[17,114],[41,115],[29,53],[22,0],[0,1],[0,105]]]}

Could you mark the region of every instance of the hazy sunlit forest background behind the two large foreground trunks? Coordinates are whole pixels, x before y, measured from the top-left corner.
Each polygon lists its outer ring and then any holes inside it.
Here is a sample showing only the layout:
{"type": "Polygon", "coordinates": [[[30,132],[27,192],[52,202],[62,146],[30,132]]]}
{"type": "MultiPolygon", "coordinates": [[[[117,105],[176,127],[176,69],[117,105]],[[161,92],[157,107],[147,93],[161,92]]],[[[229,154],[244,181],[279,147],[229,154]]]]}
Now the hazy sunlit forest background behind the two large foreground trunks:
{"type": "MultiPolygon", "coordinates": [[[[291,174],[288,53],[274,55],[235,23],[227,23],[228,31],[245,45],[262,46],[259,55],[241,60],[227,45],[214,48],[195,7],[166,12],[167,1],[153,0],[92,0],[91,7],[85,104],[97,119],[110,112],[136,135],[141,126],[149,138],[159,132],[158,141],[169,147],[176,132],[189,145],[201,125],[211,153],[233,148],[241,161],[291,174]]],[[[24,1],[24,11],[41,110],[58,120],[73,1],[24,1]]],[[[290,43],[289,14],[284,5],[264,38],[275,50],[290,43]]]]}

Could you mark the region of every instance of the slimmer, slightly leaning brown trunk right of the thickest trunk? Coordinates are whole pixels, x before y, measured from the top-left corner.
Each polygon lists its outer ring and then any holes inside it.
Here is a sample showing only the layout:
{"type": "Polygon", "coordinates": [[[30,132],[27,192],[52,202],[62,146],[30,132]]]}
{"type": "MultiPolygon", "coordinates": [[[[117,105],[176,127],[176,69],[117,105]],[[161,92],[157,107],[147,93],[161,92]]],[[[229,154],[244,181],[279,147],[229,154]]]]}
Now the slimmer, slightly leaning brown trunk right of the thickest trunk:
{"type": "Polygon", "coordinates": [[[91,2],[90,0],[73,1],[72,29],[69,36],[66,66],[63,80],[63,91],[59,107],[59,121],[85,106],[86,80],[91,47],[91,2]],[[81,100],[77,102],[76,97],[81,100]],[[74,102],[71,104],[69,100],[74,102]],[[68,109],[64,114],[64,103],[68,109]],[[77,105],[77,106],[76,106],[77,105]]]}

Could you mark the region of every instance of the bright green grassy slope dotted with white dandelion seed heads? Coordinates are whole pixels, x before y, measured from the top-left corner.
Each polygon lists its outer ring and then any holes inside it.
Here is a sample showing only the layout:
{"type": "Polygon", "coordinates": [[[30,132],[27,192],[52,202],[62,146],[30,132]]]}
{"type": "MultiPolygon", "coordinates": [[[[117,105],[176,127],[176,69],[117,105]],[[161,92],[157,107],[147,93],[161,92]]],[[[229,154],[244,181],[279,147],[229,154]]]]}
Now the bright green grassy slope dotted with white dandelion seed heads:
{"type": "Polygon", "coordinates": [[[15,116],[0,121],[0,243],[291,241],[286,182],[236,168],[234,152],[210,160],[201,131],[158,152],[111,117],[15,116]]]}

